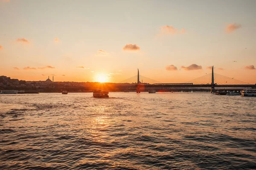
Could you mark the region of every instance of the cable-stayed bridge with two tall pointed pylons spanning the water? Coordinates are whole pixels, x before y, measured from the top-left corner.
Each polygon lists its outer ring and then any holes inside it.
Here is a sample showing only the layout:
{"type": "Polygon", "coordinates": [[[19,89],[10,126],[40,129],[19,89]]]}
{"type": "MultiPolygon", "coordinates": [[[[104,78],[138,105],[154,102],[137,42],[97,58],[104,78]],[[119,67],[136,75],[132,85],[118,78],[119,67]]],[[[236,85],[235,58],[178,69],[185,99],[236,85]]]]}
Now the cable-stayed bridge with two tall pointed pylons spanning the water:
{"type": "Polygon", "coordinates": [[[162,83],[148,77],[144,77],[139,74],[136,76],[125,79],[119,83],[120,87],[137,87],[137,93],[140,93],[142,88],[211,88],[211,92],[215,91],[215,88],[256,88],[256,84],[252,85],[247,82],[242,82],[234,78],[226,77],[221,74],[212,73],[204,76],[192,79],[185,83],[162,83]]]}

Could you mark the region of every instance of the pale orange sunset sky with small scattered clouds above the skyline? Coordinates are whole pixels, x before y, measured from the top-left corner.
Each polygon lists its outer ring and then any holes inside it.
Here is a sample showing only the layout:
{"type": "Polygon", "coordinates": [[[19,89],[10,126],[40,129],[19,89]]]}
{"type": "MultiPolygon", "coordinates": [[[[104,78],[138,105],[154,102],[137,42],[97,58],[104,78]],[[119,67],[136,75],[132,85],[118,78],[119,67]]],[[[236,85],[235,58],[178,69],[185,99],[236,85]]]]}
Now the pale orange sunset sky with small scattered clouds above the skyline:
{"type": "Polygon", "coordinates": [[[0,0],[0,75],[256,83],[256,0],[0,0]]]}

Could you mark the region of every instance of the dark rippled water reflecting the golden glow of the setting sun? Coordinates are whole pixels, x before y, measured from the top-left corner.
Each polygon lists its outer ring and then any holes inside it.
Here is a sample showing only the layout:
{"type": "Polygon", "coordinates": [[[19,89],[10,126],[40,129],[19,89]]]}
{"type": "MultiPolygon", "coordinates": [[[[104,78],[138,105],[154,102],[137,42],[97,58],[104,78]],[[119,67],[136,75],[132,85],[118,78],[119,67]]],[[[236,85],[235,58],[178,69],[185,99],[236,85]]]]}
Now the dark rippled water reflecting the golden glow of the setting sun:
{"type": "Polygon", "coordinates": [[[0,95],[0,169],[256,169],[256,97],[92,96],[0,95]]]}

